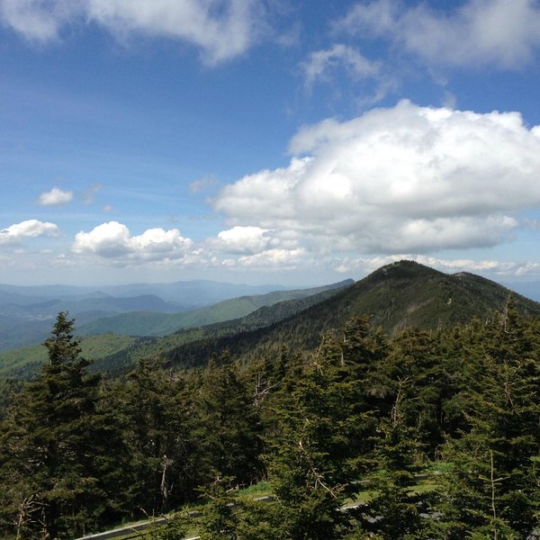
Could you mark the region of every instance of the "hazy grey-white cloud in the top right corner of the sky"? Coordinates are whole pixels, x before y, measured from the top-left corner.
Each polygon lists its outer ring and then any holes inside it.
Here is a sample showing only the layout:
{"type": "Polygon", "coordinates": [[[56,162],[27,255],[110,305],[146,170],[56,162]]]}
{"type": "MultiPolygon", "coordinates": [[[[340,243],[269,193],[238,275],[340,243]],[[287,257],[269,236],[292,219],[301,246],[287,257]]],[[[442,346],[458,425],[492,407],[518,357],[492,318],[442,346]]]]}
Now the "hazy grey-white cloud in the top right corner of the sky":
{"type": "Polygon", "coordinates": [[[540,47],[540,5],[534,0],[467,0],[451,13],[427,3],[359,3],[337,31],[391,40],[432,66],[527,65],[540,47]]]}

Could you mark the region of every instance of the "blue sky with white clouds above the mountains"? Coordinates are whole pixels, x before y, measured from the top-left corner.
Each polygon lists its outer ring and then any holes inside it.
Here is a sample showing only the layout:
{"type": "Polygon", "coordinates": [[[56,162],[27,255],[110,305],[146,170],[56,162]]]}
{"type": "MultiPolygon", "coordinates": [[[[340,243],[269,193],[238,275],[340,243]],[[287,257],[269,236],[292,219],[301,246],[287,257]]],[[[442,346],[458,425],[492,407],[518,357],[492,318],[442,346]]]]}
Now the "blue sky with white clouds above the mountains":
{"type": "Polygon", "coordinates": [[[0,283],[540,280],[540,0],[0,0],[0,283]]]}

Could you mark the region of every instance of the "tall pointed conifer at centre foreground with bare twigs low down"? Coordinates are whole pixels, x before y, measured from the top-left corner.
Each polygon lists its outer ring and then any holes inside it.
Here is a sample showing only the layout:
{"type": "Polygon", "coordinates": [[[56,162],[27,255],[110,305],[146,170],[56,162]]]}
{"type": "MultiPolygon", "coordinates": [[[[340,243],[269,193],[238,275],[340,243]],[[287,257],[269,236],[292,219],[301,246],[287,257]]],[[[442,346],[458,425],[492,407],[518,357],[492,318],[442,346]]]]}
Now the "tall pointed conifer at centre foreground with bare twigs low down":
{"type": "Polygon", "coordinates": [[[365,472],[368,434],[361,386],[347,371],[340,344],[323,338],[289,399],[276,401],[277,428],[266,463],[284,538],[343,538],[352,514],[342,511],[365,472]]]}

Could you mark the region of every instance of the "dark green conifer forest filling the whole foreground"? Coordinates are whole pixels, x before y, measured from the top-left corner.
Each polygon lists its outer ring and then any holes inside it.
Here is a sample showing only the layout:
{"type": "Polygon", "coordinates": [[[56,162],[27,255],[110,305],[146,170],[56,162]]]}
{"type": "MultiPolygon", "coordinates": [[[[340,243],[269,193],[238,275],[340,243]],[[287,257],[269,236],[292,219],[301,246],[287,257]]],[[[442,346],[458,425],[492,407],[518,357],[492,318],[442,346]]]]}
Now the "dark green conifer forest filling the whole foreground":
{"type": "Polygon", "coordinates": [[[92,372],[65,312],[3,410],[4,537],[532,539],[540,534],[540,320],[388,335],[367,317],[238,363],[92,372]],[[245,493],[264,485],[271,501],[245,493]],[[190,510],[197,509],[197,518],[190,510]]]}

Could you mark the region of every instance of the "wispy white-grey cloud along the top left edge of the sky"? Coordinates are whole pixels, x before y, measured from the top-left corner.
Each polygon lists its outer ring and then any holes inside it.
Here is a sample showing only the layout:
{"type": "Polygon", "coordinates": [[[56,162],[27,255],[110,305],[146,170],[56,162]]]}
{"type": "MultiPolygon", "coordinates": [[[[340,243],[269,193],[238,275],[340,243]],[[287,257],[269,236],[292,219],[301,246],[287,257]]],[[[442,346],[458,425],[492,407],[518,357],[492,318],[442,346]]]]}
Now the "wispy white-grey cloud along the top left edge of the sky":
{"type": "Polygon", "coordinates": [[[132,34],[182,40],[210,64],[245,52],[265,21],[261,0],[0,0],[0,16],[41,42],[58,39],[74,23],[98,24],[121,40],[132,34]]]}

